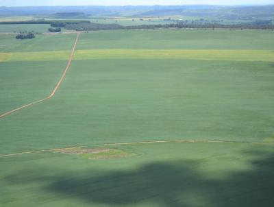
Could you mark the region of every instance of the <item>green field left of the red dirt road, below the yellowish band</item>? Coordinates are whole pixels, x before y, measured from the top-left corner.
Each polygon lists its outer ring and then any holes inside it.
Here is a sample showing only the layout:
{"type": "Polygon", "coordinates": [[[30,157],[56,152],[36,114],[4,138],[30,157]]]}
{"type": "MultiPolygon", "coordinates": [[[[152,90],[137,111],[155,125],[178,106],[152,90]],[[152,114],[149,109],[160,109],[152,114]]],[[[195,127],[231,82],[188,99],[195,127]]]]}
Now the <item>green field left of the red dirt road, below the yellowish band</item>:
{"type": "Polygon", "coordinates": [[[0,114],[51,93],[66,61],[0,62],[0,114]]]}

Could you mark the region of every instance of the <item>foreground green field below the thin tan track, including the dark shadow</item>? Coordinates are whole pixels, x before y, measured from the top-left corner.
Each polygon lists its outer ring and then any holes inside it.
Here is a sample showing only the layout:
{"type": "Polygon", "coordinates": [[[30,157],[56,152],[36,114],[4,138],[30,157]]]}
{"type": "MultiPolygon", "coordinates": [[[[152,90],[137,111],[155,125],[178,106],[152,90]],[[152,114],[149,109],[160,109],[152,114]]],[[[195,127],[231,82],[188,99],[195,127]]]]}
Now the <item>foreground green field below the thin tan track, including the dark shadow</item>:
{"type": "Polygon", "coordinates": [[[273,146],[116,146],[138,156],[41,153],[0,158],[3,206],[272,206],[273,146]],[[3,191],[5,189],[5,191],[3,191]]]}

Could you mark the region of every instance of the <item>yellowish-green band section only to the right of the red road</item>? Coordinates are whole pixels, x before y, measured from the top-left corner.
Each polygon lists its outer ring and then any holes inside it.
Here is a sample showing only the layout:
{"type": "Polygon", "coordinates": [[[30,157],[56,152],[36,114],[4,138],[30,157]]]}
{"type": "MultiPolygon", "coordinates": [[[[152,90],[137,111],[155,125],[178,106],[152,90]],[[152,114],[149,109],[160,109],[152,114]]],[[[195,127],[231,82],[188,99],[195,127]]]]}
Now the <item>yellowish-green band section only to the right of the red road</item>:
{"type": "Polygon", "coordinates": [[[75,59],[186,59],[273,62],[274,52],[269,50],[97,49],[78,50],[75,52],[75,59]]]}

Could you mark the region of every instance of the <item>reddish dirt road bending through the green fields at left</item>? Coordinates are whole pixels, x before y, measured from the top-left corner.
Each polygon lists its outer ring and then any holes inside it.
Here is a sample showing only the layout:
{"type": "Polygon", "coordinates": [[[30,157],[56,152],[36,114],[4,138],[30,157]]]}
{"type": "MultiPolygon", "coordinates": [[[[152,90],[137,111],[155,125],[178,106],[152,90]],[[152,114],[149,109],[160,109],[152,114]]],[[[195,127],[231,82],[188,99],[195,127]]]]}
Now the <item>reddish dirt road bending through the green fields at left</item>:
{"type": "Polygon", "coordinates": [[[44,99],[40,99],[40,100],[38,100],[38,101],[34,101],[34,102],[32,102],[32,103],[28,103],[28,104],[26,104],[26,105],[24,105],[24,106],[21,106],[21,107],[19,107],[19,108],[16,108],[16,109],[14,109],[14,110],[9,111],[9,112],[5,112],[4,114],[0,114],[0,119],[3,118],[3,117],[8,116],[8,115],[10,115],[10,114],[12,114],[12,113],[14,113],[14,112],[17,112],[18,110],[22,110],[22,109],[27,108],[27,107],[29,107],[29,106],[33,106],[33,105],[36,104],[36,103],[40,103],[40,102],[42,102],[42,101],[46,101],[46,100],[48,100],[48,99],[51,99],[51,98],[55,95],[55,93],[56,93],[56,91],[58,90],[58,88],[60,88],[60,85],[62,84],[62,82],[63,82],[63,80],[64,80],[64,77],[66,76],[66,72],[69,70],[69,67],[71,66],[71,62],[72,62],[72,60],[73,60],[73,56],[74,56],[74,53],[75,53],[75,49],[76,49],[76,46],[77,46],[77,42],[78,42],[78,40],[79,40],[79,36],[80,36],[80,32],[77,32],[77,37],[76,37],[75,43],[74,43],[74,45],[73,45],[73,49],[72,49],[72,51],[71,51],[71,56],[69,57],[69,62],[68,62],[68,64],[66,65],[66,69],[64,69],[64,72],[62,73],[62,76],[61,76],[60,80],[58,81],[58,83],[56,84],[55,88],[54,88],[53,91],[51,92],[51,95],[49,95],[48,97],[45,97],[44,99]]]}

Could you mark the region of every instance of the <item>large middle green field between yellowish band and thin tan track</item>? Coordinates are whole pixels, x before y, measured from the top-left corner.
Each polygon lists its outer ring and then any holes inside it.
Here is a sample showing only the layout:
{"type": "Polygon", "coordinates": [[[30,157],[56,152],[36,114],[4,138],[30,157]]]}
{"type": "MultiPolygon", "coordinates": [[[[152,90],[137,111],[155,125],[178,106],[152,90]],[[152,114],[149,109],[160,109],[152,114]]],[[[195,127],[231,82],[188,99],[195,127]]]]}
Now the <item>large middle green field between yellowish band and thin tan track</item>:
{"type": "Polygon", "coordinates": [[[269,62],[75,60],[53,99],[0,120],[1,153],[128,141],[264,141],[273,134],[272,80],[269,62]]]}

